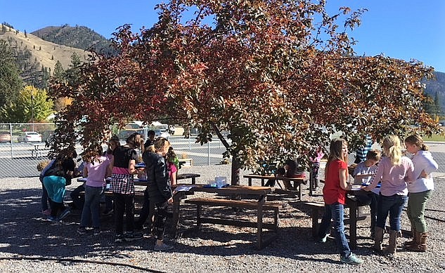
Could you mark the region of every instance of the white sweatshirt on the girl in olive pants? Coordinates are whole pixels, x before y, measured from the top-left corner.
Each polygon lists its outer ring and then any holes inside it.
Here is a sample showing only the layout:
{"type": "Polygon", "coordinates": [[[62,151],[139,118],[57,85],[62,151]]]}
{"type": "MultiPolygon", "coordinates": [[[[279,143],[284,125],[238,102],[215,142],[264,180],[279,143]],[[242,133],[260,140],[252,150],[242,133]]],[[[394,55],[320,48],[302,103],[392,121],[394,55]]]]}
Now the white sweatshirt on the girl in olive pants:
{"type": "Polygon", "coordinates": [[[434,161],[432,155],[428,151],[418,151],[413,156],[414,172],[413,181],[408,182],[408,192],[425,192],[434,189],[434,182],[431,173],[437,171],[439,167],[434,161]],[[420,176],[420,173],[425,170],[428,173],[427,178],[420,176]]]}

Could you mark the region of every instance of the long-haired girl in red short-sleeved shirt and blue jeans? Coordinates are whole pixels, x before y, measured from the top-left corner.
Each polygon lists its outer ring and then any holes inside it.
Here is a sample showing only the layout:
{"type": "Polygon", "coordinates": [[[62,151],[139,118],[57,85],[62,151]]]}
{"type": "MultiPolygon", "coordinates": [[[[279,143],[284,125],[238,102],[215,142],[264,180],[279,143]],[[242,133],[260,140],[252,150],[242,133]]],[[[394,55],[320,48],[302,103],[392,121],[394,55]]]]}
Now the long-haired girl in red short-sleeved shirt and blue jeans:
{"type": "Polygon", "coordinates": [[[320,241],[325,243],[329,234],[330,220],[332,219],[335,243],[340,251],[340,261],[351,265],[361,265],[363,260],[351,252],[344,235],[344,202],[347,190],[352,187],[347,182],[348,145],[346,140],[341,138],[332,140],[329,151],[328,163],[325,168],[325,186],[323,187],[325,213],[321,220],[318,236],[320,241]]]}

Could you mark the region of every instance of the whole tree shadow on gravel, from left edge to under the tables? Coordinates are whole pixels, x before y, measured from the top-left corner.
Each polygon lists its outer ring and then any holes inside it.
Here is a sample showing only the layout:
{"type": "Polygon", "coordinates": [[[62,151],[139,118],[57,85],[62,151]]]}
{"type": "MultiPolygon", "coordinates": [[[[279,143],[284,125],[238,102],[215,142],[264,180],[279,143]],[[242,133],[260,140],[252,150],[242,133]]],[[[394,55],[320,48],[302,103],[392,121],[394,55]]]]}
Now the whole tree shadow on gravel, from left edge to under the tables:
{"type": "MultiPolygon", "coordinates": [[[[35,187],[35,185],[33,185],[35,187]]],[[[155,239],[145,238],[131,243],[114,243],[113,218],[101,218],[102,233],[93,236],[92,232],[79,235],[76,229],[79,225],[80,213],[73,211],[63,222],[48,222],[41,216],[41,189],[20,189],[0,192],[0,251],[15,256],[72,258],[134,258],[131,250],[152,251],[155,239]]],[[[291,204],[288,209],[280,212],[280,222],[309,221],[310,218],[301,211],[299,204],[291,204]]],[[[231,208],[221,209],[212,216],[233,216],[231,208]]],[[[255,213],[243,211],[241,217],[254,219],[255,213]]],[[[137,218],[137,217],[136,217],[137,218]]],[[[271,215],[264,218],[271,220],[271,215]]],[[[195,207],[181,206],[181,226],[195,225],[195,207]]],[[[228,227],[219,225],[202,225],[201,231],[188,233],[174,242],[175,253],[195,253],[199,255],[218,255],[221,257],[236,255],[271,255],[294,260],[307,260],[327,263],[338,263],[338,260],[320,257],[316,254],[337,253],[333,241],[326,244],[316,244],[311,237],[310,225],[304,222],[302,227],[280,227],[278,237],[271,245],[258,251],[255,248],[256,229],[228,227]]],[[[265,233],[267,236],[267,232],[265,233]]]]}

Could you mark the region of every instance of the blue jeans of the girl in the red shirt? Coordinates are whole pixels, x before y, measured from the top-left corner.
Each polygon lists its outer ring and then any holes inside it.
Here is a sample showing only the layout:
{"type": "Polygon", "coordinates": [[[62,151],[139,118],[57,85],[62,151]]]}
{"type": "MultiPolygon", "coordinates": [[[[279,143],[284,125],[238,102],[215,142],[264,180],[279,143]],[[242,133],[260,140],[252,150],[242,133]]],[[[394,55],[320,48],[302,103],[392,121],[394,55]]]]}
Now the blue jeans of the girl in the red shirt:
{"type": "Polygon", "coordinates": [[[344,235],[344,205],[339,203],[325,204],[325,213],[321,219],[320,230],[318,230],[318,236],[325,237],[329,233],[330,220],[333,220],[335,243],[337,249],[340,252],[341,257],[348,258],[351,255],[349,244],[344,235]]]}

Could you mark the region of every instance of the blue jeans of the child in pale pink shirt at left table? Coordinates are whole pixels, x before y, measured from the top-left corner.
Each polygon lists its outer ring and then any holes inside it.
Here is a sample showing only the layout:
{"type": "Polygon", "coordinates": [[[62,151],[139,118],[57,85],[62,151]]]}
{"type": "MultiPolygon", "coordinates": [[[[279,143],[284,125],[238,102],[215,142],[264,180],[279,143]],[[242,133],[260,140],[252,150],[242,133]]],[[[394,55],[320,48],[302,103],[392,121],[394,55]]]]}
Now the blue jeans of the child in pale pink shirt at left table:
{"type": "Polygon", "coordinates": [[[103,195],[103,187],[85,187],[85,202],[84,209],[82,209],[82,216],[80,218],[80,226],[86,227],[93,221],[93,227],[101,226],[101,218],[99,212],[99,204],[103,195]]]}

